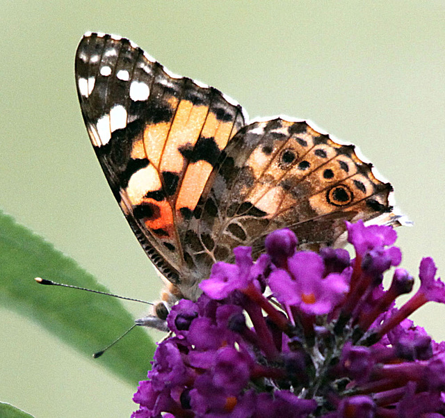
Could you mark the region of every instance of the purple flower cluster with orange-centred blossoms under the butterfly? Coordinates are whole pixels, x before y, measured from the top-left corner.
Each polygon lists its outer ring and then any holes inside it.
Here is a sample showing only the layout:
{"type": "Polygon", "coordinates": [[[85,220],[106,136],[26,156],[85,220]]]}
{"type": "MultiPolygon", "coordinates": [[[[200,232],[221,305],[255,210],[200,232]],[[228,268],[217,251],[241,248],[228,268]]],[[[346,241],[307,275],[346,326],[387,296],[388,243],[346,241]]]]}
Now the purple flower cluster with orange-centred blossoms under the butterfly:
{"type": "Polygon", "coordinates": [[[346,250],[296,251],[293,232],[266,238],[266,254],[235,248],[197,300],[172,307],[133,418],[445,417],[445,342],[407,319],[445,302],[432,259],[414,278],[391,227],[347,224],[346,250]]]}

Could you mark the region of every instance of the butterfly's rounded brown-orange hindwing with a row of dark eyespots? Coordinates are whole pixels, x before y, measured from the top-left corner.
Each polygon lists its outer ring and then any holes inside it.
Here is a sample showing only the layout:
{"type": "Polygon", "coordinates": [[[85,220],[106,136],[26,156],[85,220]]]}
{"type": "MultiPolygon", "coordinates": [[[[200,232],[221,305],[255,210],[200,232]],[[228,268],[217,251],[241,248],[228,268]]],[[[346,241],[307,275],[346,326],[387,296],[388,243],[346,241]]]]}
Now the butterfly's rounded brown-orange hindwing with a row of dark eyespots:
{"type": "MultiPolygon", "coordinates": [[[[269,232],[288,227],[300,248],[334,245],[344,221],[389,214],[390,184],[376,179],[353,145],[340,145],[307,122],[254,122],[227,145],[202,202],[200,234],[211,232],[214,259],[235,246],[258,254],[269,232]]],[[[391,219],[391,217],[389,217],[391,219]]]]}

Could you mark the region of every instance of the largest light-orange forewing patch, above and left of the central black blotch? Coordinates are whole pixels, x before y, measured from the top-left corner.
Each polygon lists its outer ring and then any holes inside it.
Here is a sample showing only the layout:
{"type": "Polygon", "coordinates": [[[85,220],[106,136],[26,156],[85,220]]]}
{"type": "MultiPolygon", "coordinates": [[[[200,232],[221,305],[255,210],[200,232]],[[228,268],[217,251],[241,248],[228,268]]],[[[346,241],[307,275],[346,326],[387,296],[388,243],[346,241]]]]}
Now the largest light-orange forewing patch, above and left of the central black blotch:
{"type": "Polygon", "coordinates": [[[208,106],[194,106],[189,100],[181,100],[165,143],[160,171],[182,171],[184,157],[179,148],[195,146],[208,111],[208,106]]]}

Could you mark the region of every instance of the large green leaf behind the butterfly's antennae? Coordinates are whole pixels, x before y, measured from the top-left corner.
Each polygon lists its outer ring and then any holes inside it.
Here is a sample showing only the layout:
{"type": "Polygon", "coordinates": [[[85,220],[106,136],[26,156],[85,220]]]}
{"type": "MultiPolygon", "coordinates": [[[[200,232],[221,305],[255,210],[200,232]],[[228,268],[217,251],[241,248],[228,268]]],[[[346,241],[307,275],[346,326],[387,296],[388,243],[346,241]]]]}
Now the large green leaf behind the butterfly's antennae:
{"type": "MultiPolygon", "coordinates": [[[[83,354],[104,348],[131,325],[120,300],[42,286],[34,278],[108,291],[76,262],[0,211],[0,304],[38,322],[83,354]]],[[[97,360],[136,387],[147,377],[154,343],[135,328],[97,360]]]]}

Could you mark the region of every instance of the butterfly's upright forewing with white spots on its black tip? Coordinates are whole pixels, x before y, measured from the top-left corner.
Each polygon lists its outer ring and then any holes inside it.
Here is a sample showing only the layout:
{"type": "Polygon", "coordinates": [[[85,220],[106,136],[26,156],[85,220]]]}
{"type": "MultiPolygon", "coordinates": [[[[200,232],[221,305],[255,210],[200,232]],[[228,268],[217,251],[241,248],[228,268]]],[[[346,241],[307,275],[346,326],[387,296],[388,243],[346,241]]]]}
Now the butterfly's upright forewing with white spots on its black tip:
{"type": "Polygon", "coordinates": [[[243,109],[114,35],[85,35],[75,64],[83,118],[115,198],[156,267],[184,284],[191,214],[243,109]]]}

